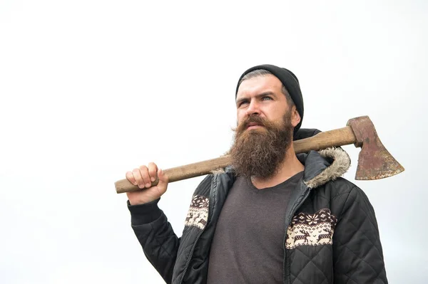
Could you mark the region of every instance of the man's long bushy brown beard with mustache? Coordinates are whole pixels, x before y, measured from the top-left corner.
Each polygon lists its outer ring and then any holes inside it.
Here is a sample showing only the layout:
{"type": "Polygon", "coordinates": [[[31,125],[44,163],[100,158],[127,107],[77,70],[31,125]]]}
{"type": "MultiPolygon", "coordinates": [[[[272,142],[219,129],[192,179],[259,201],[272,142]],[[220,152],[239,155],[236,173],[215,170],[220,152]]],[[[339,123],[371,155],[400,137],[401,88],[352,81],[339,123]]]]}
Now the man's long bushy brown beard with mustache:
{"type": "Polygon", "coordinates": [[[250,115],[236,128],[235,140],[230,148],[235,173],[263,179],[272,177],[285,159],[292,142],[292,132],[290,112],[282,117],[282,123],[250,115]],[[247,130],[250,122],[263,127],[247,130]]]}

